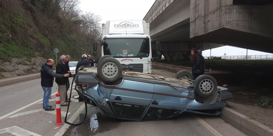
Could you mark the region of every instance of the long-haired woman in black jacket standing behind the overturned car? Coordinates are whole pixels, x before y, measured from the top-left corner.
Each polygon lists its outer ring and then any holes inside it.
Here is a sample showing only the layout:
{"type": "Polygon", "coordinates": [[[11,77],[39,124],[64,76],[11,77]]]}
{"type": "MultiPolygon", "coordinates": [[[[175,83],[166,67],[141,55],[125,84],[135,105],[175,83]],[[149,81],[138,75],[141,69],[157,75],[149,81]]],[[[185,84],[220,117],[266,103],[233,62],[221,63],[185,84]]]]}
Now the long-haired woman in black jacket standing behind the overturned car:
{"type": "Polygon", "coordinates": [[[191,74],[193,75],[193,78],[196,79],[202,74],[201,57],[196,48],[191,49],[190,53],[190,60],[192,62],[191,74]]]}

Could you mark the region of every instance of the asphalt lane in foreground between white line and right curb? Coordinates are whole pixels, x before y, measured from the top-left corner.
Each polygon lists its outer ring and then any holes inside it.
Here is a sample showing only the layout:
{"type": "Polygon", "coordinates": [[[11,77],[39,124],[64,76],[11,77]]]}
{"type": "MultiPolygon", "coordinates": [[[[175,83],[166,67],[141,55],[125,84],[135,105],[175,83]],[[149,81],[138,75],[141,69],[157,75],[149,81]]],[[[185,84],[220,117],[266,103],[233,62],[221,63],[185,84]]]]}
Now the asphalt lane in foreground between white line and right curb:
{"type": "MultiPolygon", "coordinates": [[[[82,121],[84,112],[74,123],[82,121]]],[[[162,121],[125,121],[105,117],[96,107],[89,107],[83,124],[70,126],[65,136],[245,136],[221,118],[183,113],[162,121]]]]}

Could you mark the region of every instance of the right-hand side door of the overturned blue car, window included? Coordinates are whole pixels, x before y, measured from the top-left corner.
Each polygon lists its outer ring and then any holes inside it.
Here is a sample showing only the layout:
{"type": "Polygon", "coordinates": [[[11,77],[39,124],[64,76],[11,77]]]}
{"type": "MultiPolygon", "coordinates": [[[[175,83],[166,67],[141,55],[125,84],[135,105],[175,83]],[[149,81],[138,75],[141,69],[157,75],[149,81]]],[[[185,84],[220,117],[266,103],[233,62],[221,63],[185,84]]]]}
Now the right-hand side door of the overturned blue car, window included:
{"type": "Polygon", "coordinates": [[[159,120],[178,115],[186,108],[188,89],[154,84],[154,95],[142,120],[159,120]]]}

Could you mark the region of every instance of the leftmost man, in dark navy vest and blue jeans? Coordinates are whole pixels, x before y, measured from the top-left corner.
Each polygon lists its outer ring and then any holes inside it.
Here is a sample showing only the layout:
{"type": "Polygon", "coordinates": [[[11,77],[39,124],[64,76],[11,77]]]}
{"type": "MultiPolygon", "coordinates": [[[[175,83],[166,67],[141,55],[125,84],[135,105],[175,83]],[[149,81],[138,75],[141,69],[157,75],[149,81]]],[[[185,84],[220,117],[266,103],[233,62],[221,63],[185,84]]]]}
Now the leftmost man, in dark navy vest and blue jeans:
{"type": "Polygon", "coordinates": [[[62,78],[68,77],[69,74],[55,74],[52,70],[52,66],[54,65],[54,60],[48,59],[47,63],[41,68],[41,86],[44,90],[43,97],[43,108],[46,111],[52,111],[54,108],[49,105],[49,99],[51,96],[51,87],[53,86],[54,77],[62,78]]]}

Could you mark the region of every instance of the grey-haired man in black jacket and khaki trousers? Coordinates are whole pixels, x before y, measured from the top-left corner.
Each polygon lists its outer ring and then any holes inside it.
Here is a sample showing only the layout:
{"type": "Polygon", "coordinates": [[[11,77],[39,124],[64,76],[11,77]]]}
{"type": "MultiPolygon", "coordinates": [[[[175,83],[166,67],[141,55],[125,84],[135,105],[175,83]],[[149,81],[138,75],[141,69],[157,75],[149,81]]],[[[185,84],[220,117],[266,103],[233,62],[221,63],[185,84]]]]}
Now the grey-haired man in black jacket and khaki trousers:
{"type": "MultiPolygon", "coordinates": [[[[60,56],[60,62],[56,66],[56,74],[68,74],[70,73],[68,64],[66,64],[65,55],[60,56]]],[[[66,94],[66,83],[68,77],[56,78],[55,82],[58,84],[58,93],[60,93],[60,105],[67,106],[65,102],[65,94],[66,94]]]]}

